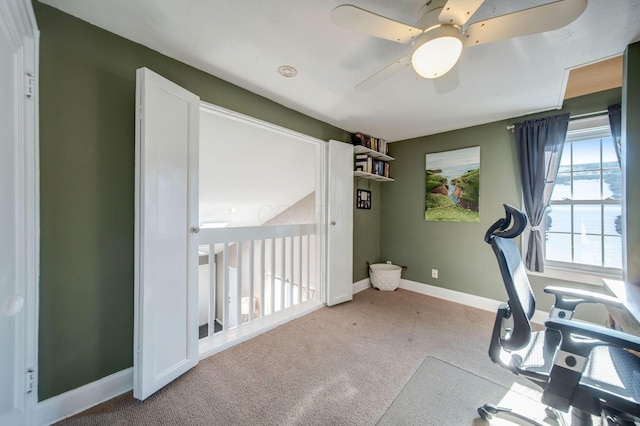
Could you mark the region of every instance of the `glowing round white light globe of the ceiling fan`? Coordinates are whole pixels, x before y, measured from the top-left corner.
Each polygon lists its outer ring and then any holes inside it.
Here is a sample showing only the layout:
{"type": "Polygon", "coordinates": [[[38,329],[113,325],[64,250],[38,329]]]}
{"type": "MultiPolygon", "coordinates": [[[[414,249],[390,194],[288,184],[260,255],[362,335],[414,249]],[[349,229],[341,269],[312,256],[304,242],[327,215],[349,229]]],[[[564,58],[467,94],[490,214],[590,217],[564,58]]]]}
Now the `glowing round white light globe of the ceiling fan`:
{"type": "Polygon", "coordinates": [[[416,40],[411,64],[421,77],[437,78],[453,68],[461,52],[460,29],[441,25],[428,30],[416,40]]]}

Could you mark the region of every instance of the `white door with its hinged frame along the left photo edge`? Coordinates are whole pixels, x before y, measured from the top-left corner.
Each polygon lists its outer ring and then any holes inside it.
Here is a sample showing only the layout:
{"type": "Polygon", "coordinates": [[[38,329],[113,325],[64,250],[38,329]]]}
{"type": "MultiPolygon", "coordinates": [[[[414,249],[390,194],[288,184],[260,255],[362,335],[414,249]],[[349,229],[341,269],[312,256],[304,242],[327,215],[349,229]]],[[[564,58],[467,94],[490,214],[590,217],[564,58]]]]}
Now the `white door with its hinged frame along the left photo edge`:
{"type": "Polygon", "coordinates": [[[22,0],[0,2],[0,22],[0,425],[24,425],[36,394],[37,27],[22,0]]]}

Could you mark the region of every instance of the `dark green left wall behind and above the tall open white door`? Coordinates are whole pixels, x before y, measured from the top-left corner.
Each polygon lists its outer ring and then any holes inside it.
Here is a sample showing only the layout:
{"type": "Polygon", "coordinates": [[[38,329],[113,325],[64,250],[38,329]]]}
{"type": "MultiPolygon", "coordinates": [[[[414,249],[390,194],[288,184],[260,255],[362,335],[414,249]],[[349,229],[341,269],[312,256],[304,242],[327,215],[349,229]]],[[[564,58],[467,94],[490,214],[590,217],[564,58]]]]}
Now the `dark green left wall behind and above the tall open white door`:
{"type": "Polygon", "coordinates": [[[41,31],[42,401],[133,365],[137,68],[307,135],[350,135],[55,8],[33,6],[41,31]]]}

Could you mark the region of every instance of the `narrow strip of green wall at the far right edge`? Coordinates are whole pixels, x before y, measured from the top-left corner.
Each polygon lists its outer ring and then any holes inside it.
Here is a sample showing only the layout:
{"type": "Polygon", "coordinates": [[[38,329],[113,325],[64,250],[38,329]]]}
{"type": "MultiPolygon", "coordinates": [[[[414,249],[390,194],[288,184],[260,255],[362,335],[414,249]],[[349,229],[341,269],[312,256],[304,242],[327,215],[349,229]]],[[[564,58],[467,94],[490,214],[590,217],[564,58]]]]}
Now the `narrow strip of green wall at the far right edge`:
{"type": "Polygon", "coordinates": [[[640,42],[627,47],[624,55],[622,94],[622,144],[626,162],[624,185],[627,214],[626,281],[640,285],[640,42]]]}

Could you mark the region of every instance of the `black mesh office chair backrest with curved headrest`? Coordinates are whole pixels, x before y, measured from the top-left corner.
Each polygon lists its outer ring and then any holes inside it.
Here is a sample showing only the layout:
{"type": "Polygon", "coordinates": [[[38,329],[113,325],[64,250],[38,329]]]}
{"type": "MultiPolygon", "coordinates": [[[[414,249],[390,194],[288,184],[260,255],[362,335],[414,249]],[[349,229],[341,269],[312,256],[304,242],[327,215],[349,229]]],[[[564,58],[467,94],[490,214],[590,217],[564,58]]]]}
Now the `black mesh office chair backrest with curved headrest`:
{"type": "Polygon", "coordinates": [[[500,273],[509,296],[509,309],[513,320],[510,333],[502,336],[500,344],[506,350],[517,350],[531,338],[530,319],[536,310],[536,301],[527,278],[520,249],[513,241],[527,226],[523,212],[508,204],[504,205],[505,218],[496,221],[485,234],[498,260],[500,273]]]}

